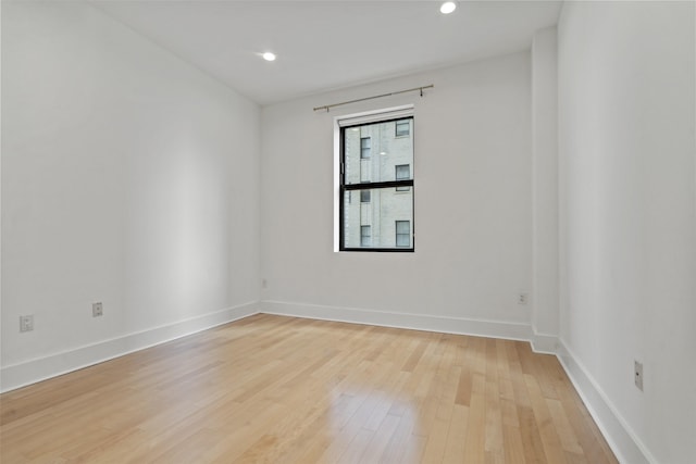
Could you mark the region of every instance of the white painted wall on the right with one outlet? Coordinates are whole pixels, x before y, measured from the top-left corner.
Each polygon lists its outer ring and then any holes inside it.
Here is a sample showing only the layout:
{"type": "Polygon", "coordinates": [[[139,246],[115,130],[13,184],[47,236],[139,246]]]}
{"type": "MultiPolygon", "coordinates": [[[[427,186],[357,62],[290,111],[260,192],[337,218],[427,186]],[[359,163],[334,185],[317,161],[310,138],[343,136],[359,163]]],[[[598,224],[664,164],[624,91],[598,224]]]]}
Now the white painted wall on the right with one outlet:
{"type": "Polygon", "coordinates": [[[562,358],[626,463],[696,461],[694,9],[568,2],[558,25],[562,358]]]}

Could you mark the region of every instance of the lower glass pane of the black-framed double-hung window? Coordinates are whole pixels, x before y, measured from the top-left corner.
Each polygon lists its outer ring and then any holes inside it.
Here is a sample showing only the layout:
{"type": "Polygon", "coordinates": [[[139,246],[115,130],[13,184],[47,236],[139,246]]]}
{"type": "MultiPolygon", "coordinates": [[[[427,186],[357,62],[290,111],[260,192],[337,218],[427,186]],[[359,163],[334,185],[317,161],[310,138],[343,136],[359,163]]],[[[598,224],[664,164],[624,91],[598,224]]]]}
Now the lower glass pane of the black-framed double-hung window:
{"type": "Polygon", "coordinates": [[[344,248],[410,248],[413,193],[394,188],[346,191],[344,195],[344,248]],[[371,201],[349,202],[369,192],[371,201]],[[369,234],[369,238],[368,238],[369,234]]]}

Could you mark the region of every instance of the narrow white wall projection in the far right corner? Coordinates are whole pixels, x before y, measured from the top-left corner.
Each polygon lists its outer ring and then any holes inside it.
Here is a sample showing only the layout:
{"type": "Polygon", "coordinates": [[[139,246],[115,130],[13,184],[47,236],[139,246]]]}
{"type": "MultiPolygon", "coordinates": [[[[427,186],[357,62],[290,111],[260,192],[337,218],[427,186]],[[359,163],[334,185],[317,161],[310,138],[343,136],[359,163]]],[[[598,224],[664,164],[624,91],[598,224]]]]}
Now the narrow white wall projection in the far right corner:
{"type": "Polygon", "coordinates": [[[532,42],[532,326],[545,335],[546,351],[558,337],[558,63],[556,27],[542,29],[532,42]]]}

